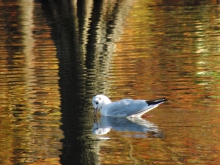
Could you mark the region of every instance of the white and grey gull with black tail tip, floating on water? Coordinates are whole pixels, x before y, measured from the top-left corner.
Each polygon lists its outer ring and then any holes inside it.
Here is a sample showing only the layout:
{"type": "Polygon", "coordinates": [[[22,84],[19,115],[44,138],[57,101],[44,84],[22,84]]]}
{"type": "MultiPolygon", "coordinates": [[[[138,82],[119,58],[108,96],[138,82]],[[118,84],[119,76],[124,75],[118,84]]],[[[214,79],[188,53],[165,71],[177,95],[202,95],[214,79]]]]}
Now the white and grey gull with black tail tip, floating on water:
{"type": "Polygon", "coordinates": [[[141,117],[146,112],[156,108],[159,104],[167,101],[165,98],[156,100],[132,100],[122,99],[117,102],[111,102],[111,100],[105,95],[96,95],[92,99],[94,106],[94,114],[100,110],[102,116],[111,117],[141,117]]]}

